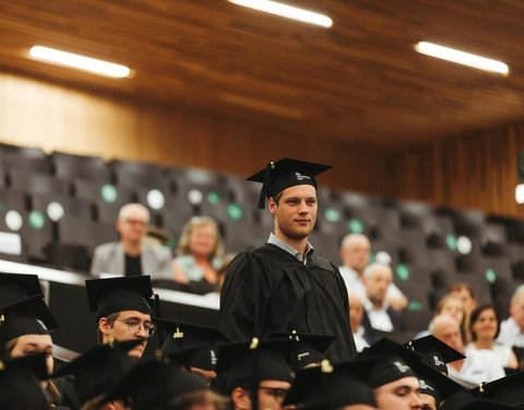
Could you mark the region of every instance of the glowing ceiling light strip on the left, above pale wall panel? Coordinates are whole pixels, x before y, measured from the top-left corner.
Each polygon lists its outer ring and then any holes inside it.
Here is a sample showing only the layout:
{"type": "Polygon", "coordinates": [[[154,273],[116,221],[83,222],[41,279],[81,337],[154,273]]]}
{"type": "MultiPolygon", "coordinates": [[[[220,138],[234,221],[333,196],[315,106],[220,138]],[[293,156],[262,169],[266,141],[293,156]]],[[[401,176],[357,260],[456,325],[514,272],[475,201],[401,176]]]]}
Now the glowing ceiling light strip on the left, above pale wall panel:
{"type": "Polygon", "coordinates": [[[72,67],[100,75],[114,78],[127,78],[131,75],[131,70],[126,66],[97,60],[95,58],[80,56],[76,54],[60,51],[53,48],[34,46],[31,48],[29,54],[32,57],[39,60],[72,67]]]}

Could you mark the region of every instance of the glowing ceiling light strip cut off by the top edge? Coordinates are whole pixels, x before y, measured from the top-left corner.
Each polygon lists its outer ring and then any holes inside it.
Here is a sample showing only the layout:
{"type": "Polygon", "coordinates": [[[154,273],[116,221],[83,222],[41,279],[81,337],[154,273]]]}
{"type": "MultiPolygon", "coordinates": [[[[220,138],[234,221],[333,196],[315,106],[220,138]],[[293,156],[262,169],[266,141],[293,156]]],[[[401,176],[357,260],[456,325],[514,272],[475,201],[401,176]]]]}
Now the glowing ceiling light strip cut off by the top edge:
{"type": "Polygon", "coordinates": [[[305,23],[318,24],[322,27],[330,28],[333,25],[333,21],[324,15],[314,13],[312,11],[298,9],[291,5],[278,3],[271,0],[229,0],[229,2],[245,5],[251,9],[264,11],[266,13],[281,15],[283,17],[298,20],[305,23]]]}

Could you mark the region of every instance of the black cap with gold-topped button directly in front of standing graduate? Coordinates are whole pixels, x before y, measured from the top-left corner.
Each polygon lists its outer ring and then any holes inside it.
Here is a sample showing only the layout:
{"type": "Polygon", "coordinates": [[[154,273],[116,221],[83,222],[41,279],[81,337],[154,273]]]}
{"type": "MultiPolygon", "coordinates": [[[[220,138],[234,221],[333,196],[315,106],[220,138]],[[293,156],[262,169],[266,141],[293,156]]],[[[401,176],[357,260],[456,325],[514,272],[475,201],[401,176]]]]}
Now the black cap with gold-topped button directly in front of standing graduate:
{"type": "Polygon", "coordinates": [[[291,383],[289,339],[223,344],[218,348],[216,373],[226,375],[226,389],[258,386],[261,380],[291,383]]]}

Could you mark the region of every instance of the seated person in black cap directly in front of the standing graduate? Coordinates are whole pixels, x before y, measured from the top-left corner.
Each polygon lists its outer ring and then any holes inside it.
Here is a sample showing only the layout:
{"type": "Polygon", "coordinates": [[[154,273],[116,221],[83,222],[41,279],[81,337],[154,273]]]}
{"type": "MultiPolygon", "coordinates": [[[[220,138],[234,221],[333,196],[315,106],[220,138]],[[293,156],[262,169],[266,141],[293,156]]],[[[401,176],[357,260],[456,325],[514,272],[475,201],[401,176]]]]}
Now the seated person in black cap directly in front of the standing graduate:
{"type": "Polygon", "coordinates": [[[225,373],[225,389],[235,410],[282,410],[294,379],[289,367],[290,341],[224,344],[218,350],[217,373],[225,373]]]}

